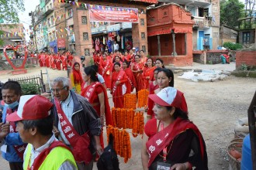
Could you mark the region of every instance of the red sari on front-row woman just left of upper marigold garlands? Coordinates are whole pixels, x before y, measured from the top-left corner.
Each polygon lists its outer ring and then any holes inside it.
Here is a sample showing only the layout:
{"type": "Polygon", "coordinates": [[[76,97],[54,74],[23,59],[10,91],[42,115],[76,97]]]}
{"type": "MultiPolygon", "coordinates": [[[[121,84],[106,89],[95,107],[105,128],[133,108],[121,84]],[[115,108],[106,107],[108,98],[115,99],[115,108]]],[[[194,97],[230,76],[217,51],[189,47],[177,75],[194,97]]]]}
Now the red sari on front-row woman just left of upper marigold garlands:
{"type": "Polygon", "coordinates": [[[111,90],[112,90],[112,100],[114,102],[114,107],[116,108],[123,108],[123,84],[127,82],[128,77],[126,76],[126,73],[123,70],[120,70],[119,72],[114,71],[112,73],[112,79],[111,79],[111,90]],[[120,83],[118,85],[115,85],[116,81],[119,81],[120,83]]]}

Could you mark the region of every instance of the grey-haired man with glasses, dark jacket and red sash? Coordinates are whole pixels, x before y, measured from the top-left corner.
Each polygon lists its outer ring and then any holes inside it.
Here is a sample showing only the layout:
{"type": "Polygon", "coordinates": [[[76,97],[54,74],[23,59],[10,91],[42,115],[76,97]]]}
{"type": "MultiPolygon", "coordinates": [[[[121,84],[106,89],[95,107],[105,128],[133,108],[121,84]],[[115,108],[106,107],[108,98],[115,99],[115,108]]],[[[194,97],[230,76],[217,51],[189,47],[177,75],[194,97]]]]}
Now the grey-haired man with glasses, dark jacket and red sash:
{"type": "Polygon", "coordinates": [[[101,124],[98,114],[80,95],[69,89],[69,80],[57,77],[52,83],[54,125],[60,138],[74,154],[78,169],[92,169],[93,156],[102,153],[99,142],[101,124]]]}

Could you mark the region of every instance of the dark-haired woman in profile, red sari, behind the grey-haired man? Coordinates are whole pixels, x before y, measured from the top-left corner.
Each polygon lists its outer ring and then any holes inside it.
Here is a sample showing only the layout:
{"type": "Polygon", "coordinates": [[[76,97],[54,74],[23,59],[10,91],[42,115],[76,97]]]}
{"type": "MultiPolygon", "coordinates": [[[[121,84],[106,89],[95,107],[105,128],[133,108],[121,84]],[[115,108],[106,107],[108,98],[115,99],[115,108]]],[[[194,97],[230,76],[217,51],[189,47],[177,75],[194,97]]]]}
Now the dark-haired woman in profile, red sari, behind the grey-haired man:
{"type": "MultiPolygon", "coordinates": [[[[88,86],[81,92],[81,96],[92,104],[100,117],[102,127],[104,126],[105,117],[106,125],[113,125],[106,88],[102,86],[102,83],[99,83],[97,73],[91,66],[88,66],[84,69],[83,77],[88,86]]],[[[101,132],[99,139],[102,148],[104,148],[103,132],[101,132]]]]}

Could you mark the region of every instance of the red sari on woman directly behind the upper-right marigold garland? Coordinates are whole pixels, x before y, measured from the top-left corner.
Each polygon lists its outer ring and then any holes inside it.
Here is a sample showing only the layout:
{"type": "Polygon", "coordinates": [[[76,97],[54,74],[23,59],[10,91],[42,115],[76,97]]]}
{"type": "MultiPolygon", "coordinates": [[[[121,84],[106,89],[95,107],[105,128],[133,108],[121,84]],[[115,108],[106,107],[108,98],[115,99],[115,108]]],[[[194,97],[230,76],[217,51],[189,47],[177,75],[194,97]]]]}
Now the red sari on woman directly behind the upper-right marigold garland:
{"type": "MultiPolygon", "coordinates": [[[[133,63],[133,71],[137,71],[137,70],[143,70],[144,69],[144,64],[143,63],[133,63]]],[[[136,84],[137,84],[137,88],[136,88],[136,92],[144,89],[144,80],[142,78],[142,72],[137,72],[134,73],[133,75],[135,77],[136,80],[136,84]]]]}

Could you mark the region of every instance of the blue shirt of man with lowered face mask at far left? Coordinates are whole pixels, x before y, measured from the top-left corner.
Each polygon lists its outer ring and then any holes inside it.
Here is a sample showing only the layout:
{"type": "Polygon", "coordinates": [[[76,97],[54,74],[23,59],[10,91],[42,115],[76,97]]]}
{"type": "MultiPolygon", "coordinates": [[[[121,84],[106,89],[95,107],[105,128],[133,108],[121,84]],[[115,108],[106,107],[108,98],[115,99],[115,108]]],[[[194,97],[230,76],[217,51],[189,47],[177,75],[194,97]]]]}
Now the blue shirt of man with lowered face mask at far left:
{"type": "MultiPolygon", "coordinates": [[[[6,119],[6,110],[7,107],[4,106],[2,110],[2,121],[5,122],[6,119]]],[[[13,145],[24,145],[22,139],[19,136],[18,132],[12,132],[7,134],[4,140],[4,145],[7,145],[6,153],[2,151],[2,158],[5,158],[8,162],[22,162],[22,159],[19,158],[13,145]]]]}

